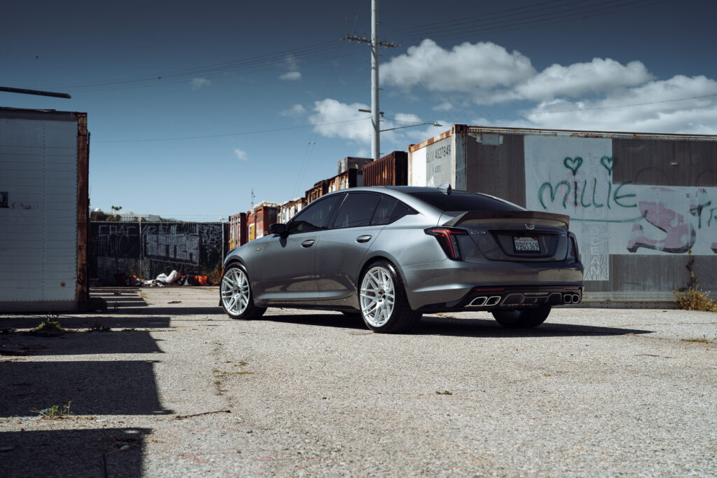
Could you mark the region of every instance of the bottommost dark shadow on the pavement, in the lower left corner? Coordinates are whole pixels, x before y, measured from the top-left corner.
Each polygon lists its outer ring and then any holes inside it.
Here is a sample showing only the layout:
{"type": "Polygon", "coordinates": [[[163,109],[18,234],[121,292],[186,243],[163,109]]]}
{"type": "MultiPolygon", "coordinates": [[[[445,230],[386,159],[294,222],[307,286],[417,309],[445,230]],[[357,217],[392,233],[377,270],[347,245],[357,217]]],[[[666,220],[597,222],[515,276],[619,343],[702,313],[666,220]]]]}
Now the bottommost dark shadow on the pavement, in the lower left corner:
{"type": "Polygon", "coordinates": [[[3,477],[141,477],[147,428],[0,433],[3,477]]]}

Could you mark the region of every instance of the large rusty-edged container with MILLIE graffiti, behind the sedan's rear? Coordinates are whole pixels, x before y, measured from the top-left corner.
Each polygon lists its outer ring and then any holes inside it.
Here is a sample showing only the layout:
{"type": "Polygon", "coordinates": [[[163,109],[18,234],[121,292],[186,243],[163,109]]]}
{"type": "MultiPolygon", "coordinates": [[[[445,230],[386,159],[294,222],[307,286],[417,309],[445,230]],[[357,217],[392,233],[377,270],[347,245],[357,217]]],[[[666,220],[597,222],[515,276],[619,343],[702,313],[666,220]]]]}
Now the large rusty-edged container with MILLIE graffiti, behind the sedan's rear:
{"type": "Polygon", "coordinates": [[[409,146],[409,184],[571,217],[594,306],[670,306],[691,254],[717,289],[717,136],[452,126],[409,146]]]}

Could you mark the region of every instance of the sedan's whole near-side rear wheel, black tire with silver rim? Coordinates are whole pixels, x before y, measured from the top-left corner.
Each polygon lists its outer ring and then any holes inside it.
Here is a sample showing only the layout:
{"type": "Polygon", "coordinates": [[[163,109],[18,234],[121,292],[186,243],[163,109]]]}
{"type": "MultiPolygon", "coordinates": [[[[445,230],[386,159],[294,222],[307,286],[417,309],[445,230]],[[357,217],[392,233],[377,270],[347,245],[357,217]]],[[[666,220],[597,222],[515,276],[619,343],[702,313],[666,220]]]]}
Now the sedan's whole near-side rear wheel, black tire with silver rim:
{"type": "Polygon", "coordinates": [[[374,332],[408,332],[421,319],[411,310],[401,276],[389,261],[371,263],[359,281],[359,309],[374,332]]]}

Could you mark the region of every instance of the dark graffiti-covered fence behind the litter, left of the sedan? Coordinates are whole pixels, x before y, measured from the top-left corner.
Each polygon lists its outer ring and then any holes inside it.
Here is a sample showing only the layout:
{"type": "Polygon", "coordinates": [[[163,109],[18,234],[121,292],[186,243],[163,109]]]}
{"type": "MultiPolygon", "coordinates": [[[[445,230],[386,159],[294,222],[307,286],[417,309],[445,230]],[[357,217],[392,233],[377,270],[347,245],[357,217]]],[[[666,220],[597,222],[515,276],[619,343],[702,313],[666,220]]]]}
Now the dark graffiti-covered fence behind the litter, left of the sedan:
{"type": "Polygon", "coordinates": [[[87,273],[103,285],[179,271],[212,276],[227,250],[222,222],[90,222],[87,273]]]}

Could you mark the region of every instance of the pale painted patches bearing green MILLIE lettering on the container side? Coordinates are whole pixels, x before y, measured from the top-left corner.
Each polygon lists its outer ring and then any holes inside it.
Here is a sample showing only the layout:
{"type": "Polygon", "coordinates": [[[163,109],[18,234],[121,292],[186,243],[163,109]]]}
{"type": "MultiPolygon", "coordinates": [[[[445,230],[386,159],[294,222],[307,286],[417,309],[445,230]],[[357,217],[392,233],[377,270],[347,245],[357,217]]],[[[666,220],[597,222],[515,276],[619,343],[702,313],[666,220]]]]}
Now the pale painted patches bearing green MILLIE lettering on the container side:
{"type": "Polygon", "coordinates": [[[528,209],[571,216],[585,278],[609,280],[610,254],[717,253],[717,188],[614,183],[612,140],[526,137],[528,209]]]}

